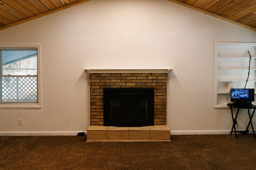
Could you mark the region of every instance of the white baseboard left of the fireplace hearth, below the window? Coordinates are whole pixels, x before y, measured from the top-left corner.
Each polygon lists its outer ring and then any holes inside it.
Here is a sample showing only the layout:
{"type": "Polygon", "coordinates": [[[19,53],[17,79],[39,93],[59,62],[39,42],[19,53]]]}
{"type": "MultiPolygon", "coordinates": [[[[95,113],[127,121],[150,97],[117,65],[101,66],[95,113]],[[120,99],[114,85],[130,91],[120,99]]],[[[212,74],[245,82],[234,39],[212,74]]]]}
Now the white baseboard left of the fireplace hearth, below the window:
{"type": "MultiPolygon", "coordinates": [[[[82,132],[82,131],[79,131],[82,132]]],[[[0,136],[76,136],[78,131],[0,132],[0,136]]]]}

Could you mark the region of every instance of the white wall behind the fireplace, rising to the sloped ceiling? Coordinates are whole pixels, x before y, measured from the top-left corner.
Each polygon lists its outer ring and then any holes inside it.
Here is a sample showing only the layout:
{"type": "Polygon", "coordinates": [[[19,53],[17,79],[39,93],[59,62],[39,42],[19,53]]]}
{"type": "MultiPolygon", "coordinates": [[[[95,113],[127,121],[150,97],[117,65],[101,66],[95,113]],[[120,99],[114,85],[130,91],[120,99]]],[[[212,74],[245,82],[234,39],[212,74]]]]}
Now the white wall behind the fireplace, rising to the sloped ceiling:
{"type": "MultiPolygon", "coordinates": [[[[83,68],[168,68],[172,134],[229,133],[215,109],[214,42],[255,42],[256,32],[165,0],[92,0],[0,31],[0,43],[42,45],[42,108],[0,108],[0,135],[72,135],[89,126],[83,68]],[[24,125],[18,125],[23,119],[24,125]]],[[[247,115],[241,115],[247,121],[247,115]]],[[[246,121],[239,121],[240,129],[246,121]]]]}

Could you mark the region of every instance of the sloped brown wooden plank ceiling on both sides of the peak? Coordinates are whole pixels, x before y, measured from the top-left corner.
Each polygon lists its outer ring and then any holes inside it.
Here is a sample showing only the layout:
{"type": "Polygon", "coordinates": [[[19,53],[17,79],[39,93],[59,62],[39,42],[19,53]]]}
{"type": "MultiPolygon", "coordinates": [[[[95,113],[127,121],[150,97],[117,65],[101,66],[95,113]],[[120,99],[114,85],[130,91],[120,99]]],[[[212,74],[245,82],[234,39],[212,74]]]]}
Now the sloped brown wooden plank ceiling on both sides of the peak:
{"type": "MultiPolygon", "coordinates": [[[[0,30],[89,0],[0,0],[0,30]]],[[[168,0],[256,31],[256,0],[168,0]]]]}

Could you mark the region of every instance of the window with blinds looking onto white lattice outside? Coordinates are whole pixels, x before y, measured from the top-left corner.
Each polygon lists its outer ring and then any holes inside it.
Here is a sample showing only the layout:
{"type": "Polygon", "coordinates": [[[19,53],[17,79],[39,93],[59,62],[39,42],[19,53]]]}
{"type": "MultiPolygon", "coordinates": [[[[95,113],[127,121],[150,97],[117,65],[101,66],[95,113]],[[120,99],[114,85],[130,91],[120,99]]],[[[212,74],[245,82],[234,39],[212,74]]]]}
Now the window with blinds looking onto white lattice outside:
{"type": "Polygon", "coordinates": [[[0,107],[40,107],[38,48],[0,47],[0,107]]]}

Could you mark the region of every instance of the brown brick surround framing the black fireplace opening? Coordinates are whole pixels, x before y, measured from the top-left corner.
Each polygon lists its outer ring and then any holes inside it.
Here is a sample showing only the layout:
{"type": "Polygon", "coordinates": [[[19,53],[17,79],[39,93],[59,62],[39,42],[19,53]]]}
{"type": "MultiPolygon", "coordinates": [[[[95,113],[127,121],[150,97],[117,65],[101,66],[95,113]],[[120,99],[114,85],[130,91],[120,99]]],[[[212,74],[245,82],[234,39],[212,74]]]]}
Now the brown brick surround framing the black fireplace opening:
{"type": "Polygon", "coordinates": [[[154,88],[154,125],[166,125],[167,73],[90,73],[90,125],[103,125],[103,88],[154,88]]]}

